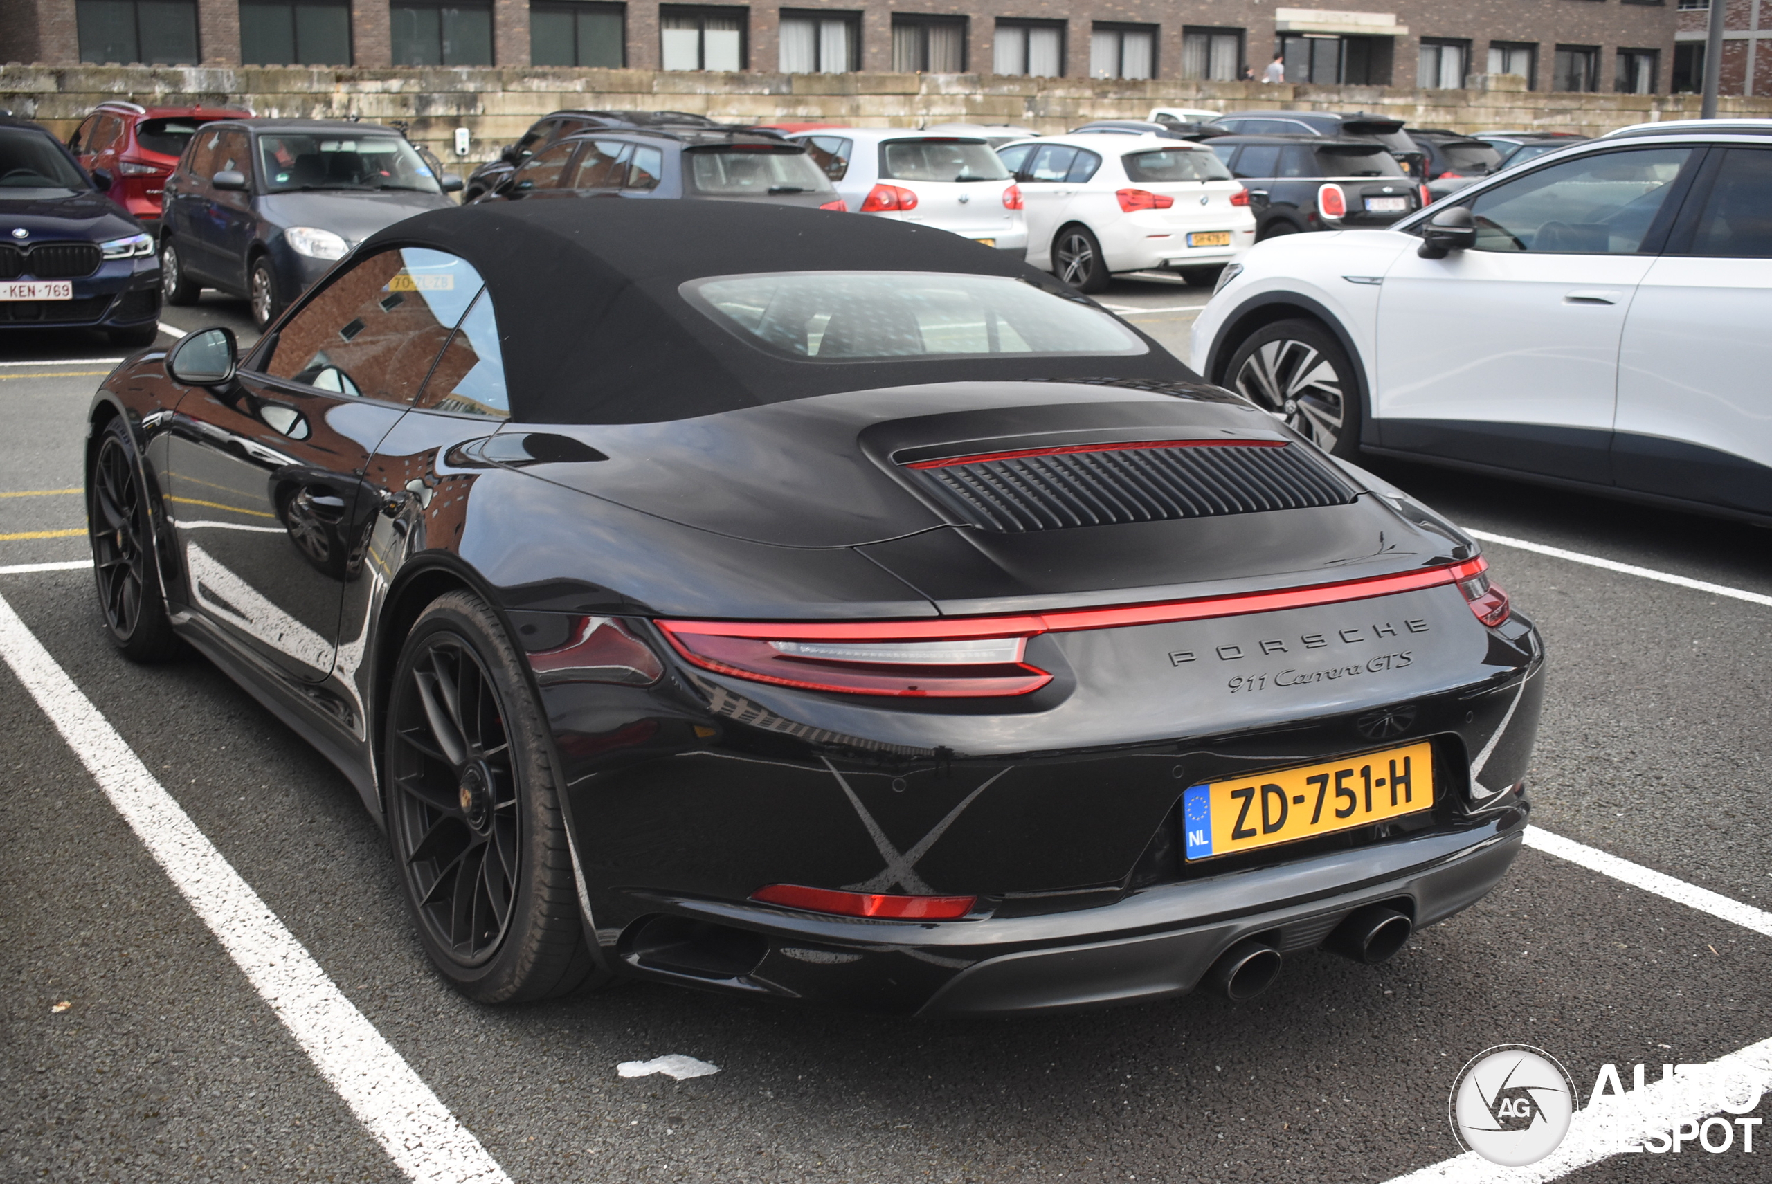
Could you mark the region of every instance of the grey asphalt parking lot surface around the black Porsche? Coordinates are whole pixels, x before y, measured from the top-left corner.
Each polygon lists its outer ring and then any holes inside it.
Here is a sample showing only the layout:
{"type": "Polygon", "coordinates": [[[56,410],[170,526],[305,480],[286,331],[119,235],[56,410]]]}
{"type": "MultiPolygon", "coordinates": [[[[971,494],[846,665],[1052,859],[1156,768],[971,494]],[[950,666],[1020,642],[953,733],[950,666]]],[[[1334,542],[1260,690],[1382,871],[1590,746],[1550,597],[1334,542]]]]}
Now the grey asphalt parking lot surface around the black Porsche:
{"type": "MultiPolygon", "coordinates": [[[[1122,280],[1100,300],[1185,356],[1207,292],[1122,280]]],[[[211,294],[167,324],[243,330],[243,314],[211,294]]],[[[1022,1021],[652,984],[484,1009],[431,973],[386,844],[331,766],[206,661],[110,652],[90,573],[71,564],[87,553],[83,413],[115,353],[82,335],[0,342],[0,599],[447,1108],[450,1138],[489,1159],[397,1166],[298,1040],[308,1021],[266,1001],[41,686],[0,665],[0,1179],[1772,1179],[1772,1134],[1754,1154],[1607,1143],[1554,1175],[1501,1175],[1453,1159],[1446,1120],[1458,1067],[1494,1044],[1552,1053],[1586,1101],[1605,1063],[1653,1081],[1772,1037],[1772,532],[1375,466],[1487,535],[1550,652],[1531,775],[1545,838],[1386,966],[1310,954],[1246,1005],[1198,994],[1022,1021]],[[617,1069],[673,1053],[719,1071],[617,1069]]]]}

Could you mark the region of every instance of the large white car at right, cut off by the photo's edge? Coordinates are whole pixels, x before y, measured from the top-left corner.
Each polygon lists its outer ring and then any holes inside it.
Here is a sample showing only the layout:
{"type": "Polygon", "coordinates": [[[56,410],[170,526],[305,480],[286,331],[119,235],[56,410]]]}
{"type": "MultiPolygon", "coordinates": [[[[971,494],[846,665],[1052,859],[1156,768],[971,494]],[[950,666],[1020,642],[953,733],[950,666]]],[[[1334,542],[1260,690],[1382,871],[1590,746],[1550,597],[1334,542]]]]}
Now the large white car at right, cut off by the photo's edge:
{"type": "Polygon", "coordinates": [[[1255,246],[1193,367],[1343,457],[1772,525],[1772,121],[1646,124],[1255,246]]]}

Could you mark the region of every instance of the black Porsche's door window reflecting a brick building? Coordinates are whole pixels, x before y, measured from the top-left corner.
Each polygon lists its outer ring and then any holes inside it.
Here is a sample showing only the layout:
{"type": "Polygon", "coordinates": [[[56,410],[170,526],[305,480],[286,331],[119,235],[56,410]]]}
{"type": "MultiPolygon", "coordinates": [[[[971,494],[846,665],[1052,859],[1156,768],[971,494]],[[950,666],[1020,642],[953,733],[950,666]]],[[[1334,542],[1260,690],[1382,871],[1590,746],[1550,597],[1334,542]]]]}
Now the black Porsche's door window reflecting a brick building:
{"type": "Polygon", "coordinates": [[[480,273],[455,255],[418,246],[370,255],[289,319],[266,374],[409,402],[480,287],[480,273]]]}

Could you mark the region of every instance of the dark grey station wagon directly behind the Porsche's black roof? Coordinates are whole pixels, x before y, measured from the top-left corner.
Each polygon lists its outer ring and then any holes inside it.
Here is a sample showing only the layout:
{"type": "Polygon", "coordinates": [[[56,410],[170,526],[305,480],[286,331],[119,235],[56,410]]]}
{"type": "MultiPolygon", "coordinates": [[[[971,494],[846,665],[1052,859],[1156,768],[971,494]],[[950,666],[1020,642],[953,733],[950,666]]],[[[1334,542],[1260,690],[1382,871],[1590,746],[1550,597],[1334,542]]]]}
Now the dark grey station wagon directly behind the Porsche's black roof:
{"type": "Polygon", "coordinates": [[[806,147],[758,131],[581,131],[540,149],[478,202],[643,197],[842,209],[806,147]]]}

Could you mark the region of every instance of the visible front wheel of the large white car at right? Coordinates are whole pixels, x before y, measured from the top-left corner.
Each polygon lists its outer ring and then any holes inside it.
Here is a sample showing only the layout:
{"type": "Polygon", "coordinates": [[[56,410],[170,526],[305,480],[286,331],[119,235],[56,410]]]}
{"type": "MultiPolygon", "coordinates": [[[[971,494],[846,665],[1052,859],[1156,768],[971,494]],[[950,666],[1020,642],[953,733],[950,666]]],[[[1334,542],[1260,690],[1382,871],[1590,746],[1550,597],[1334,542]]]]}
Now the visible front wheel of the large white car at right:
{"type": "Polygon", "coordinates": [[[1359,454],[1359,401],[1341,344],[1313,321],[1276,321],[1232,354],[1232,390],[1324,452],[1359,454]]]}

